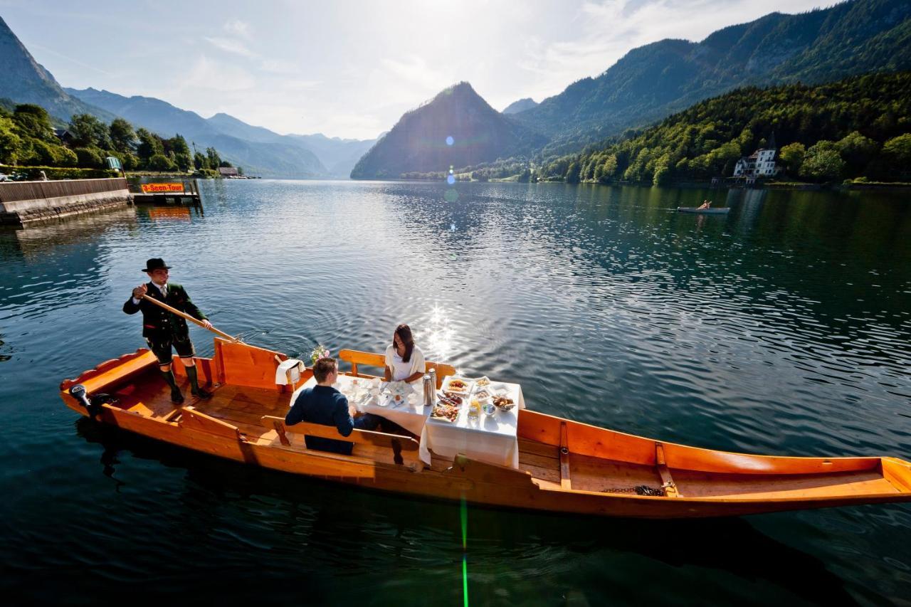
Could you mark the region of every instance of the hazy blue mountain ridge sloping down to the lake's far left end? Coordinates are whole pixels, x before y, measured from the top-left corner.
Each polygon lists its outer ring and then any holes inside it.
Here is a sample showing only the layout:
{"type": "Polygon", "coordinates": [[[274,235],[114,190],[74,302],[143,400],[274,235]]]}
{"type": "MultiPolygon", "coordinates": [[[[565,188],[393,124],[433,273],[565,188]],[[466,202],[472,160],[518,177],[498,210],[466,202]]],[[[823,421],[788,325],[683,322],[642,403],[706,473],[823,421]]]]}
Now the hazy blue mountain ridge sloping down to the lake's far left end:
{"type": "MultiPolygon", "coordinates": [[[[244,127],[240,129],[233,123],[227,124],[219,121],[214,124],[202,118],[196,112],[172,106],[167,101],[151,97],[124,97],[107,90],[86,88],[77,90],[67,88],[67,92],[87,103],[104,108],[107,111],[126,118],[134,127],[145,127],[162,137],[173,137],[179,133],[188,143],[196,145],[200,151],[205,148],[219,150],[222,158],[230,161],[235,166],[241,166],[248,175],[261,177],[297,177],[313,178],[325,177],[328,171],[320,159],[309,149],[305,149],[291,139],[283,139],[281,135],[271,133],[274,138],[266,137],[247,139],[251,127],[236,118],[244,127]],[[235,130],[238,131],[235,134],[235,130]]],[[[230,117],[227,117],[230,118],[230,117]]]]}

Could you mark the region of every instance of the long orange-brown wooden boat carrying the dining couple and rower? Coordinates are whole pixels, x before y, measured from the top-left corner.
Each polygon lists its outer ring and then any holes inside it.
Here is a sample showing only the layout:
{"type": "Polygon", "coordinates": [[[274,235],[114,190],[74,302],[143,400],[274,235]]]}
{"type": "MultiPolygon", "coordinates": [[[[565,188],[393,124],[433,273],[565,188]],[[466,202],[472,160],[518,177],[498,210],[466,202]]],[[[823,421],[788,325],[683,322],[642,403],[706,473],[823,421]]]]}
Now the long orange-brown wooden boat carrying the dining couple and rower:
{"type": "MultiPolygon", "coordinates": [[[[352,375],[383,355],[346,350],[352,375]]],[[[414,437],[354,430],[350,456],[306,448],[303,433],[339,438],[335,428],[285,427],[293,386],[277,386],[287,357],[224,339],[199,358],[214,395],[170,402],[146,349],[110,360],[60,385],[82,415],[131,432],[249,465],[364,488],[554,512],[640,518],[714,517],[911,500],[911,463],[897,458],[786,458],[727,453],[635,437],[522,409],[519,469],[457,455],[417,458],[414,437]],[[83,386],[86,401],[71,394],[83,386]],[[102,396],[107,393],[109,396],[102,396]]],[[[428,363],[428,365],[435,365],[428,363]]],[[[436,365],[440,378],[453,373],[436,365]]],[[[174,365],[182,374],[182,366],[174,365]]],[[[307,370],[302,377],[309,376],[307,370]]],[[[186,376],[179,375],[187,392],[186,376]]]]}

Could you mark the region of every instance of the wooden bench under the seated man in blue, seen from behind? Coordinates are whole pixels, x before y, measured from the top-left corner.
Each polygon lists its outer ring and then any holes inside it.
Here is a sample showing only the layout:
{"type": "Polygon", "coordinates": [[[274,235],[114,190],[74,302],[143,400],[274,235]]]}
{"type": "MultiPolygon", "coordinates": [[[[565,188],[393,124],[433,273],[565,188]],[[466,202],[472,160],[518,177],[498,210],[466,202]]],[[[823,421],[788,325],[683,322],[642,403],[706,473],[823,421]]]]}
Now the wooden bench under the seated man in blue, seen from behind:
{"type": "MultiPolygon", "coordinates": [[[[369,458],[381,463],[396,464],[405,466],[412,470],[421,470],[424,464],[418,456],[418,443],[412,437],[402,437],[395,434],[386,434],[385,432],[375,432],[374,430],[360,430],[354,428],[352,433],[347,437],[339,434],[337,428],[332,426],[322,426],[322,424],[312,424],[301,422],[288,426],[284,423],[283,417],[262,416],[261,423],[263,427],[275,428],[278,433],[278,439],[285,447],[292,445],[289,434],[310,435],[312,437],[333,438],[353,443],[352,456],[369,458]]],[[[306,439],[304,439],[306,444],[306,439]]],[[[320,451],[323,453],[323,451],[320,451]]]]}

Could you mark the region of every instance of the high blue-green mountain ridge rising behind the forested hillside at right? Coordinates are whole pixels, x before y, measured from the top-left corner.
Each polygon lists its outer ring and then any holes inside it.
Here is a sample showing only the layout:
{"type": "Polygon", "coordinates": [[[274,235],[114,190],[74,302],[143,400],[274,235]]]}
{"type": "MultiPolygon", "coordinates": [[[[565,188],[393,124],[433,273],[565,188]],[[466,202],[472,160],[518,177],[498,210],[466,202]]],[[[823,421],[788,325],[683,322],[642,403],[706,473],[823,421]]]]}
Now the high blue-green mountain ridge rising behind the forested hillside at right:
{"type": "Polygon", "coordinates": [[[661,40],[631,50],[515,115],[577,149],[734,87],[832,81],[911,67],[911,3],[855,0],[800,15],[772,13],[701,42],[661,40]]]}

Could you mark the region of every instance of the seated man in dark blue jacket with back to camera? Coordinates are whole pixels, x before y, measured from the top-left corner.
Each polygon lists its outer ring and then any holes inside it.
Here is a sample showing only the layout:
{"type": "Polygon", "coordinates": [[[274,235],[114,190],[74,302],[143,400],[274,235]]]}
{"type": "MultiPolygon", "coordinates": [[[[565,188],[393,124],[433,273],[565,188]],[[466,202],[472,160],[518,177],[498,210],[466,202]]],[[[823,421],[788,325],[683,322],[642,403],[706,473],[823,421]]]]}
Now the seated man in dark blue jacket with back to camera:
{"type": "MultiPolygon", "coordinates": [[[[339,434],[347,437],[356,427],[360,430],[374,430],[383,419],[379,416],[365,414],[357,419],[352,419],[353,406],[348,405],[348,399],[333,388],[339,376],[338,364],[334,358],[321,358],[313,365],[313,376],[316,377],[316,386],[306,388],[297,396],[285,424],[292,426],[298,422],[312,422],[322,426],[334,426],[339,434]]],[[[310,437],[304,435],[307,448],[320,451],[332,451],[343,455],[351,455],[353,443],[333,438],[310,437]]]]}

